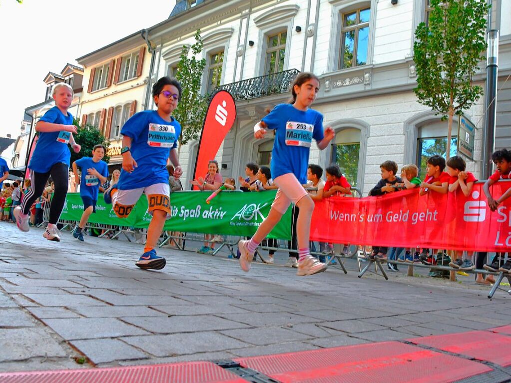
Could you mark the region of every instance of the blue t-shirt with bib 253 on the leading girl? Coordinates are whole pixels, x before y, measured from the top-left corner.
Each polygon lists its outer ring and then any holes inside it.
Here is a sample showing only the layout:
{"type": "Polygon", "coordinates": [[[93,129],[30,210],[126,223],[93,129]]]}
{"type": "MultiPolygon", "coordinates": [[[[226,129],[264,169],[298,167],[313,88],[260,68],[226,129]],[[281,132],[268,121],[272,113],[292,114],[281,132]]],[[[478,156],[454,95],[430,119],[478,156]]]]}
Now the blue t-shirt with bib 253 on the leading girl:
{"type": "Polygon", "coordinates": [[[293,173],[305,184],[312,139],[323,139],[323,115],[312,109],[304,112],[291,104],[279,104],[262,121],[268,129],[275,129],[271,177],[293,173]]]}

